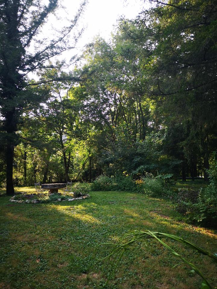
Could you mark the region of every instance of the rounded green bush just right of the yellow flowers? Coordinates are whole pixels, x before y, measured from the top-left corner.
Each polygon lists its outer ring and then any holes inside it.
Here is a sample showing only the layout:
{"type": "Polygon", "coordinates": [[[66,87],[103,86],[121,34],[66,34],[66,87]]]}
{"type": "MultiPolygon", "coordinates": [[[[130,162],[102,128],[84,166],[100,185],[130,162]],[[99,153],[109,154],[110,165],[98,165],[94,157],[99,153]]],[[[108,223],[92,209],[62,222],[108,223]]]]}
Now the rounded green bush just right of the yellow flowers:
{"type": "MultiPolygon", "coordinates": [[[[169,176],[169,178],[171,175],[169,176]]],[[[154,177],[152,174],[146,173],[143,178],[143,192],[153,197],[163,197],[169,194],[170,186],[165,176],[158,175],[154,177]]]]}

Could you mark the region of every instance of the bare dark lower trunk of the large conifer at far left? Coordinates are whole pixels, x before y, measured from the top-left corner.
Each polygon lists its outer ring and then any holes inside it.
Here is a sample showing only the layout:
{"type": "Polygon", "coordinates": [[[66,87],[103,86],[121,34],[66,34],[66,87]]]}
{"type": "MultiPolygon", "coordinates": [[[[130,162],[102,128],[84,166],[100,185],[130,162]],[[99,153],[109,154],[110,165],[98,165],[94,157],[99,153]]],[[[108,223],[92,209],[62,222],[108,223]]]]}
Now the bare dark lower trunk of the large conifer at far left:
{"type": "Polygon", "coordinates": [[[8,141],[6,150],[6,194],[14,195],[13,185],[13,160],[14,160],[14,145],[8,141]]]}

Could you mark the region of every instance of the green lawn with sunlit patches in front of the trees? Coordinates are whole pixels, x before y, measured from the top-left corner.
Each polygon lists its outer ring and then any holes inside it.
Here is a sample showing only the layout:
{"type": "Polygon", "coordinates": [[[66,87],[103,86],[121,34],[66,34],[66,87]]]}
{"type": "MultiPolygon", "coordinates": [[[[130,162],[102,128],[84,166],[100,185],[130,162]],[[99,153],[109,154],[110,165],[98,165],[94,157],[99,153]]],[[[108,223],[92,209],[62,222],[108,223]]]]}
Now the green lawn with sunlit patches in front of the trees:
{"type": "MultiPolygon", "coordinates": [[[[16,188],[34,191],[34,188],[16,188]]],[[[106,281],[108,247],[134,229],[166,232],[217,252],[217,232],[181,222],[169,201],[129,192],[91,192],[90,199],[49,204],[14,204],[0,197],[0,288],[96,288],[106,281]]],[[[175,242],[213,287],[217,267],[175,242]]],[[[153,240],[128,250],[108,288],[200,288],[201,278],[153,240]]]]}

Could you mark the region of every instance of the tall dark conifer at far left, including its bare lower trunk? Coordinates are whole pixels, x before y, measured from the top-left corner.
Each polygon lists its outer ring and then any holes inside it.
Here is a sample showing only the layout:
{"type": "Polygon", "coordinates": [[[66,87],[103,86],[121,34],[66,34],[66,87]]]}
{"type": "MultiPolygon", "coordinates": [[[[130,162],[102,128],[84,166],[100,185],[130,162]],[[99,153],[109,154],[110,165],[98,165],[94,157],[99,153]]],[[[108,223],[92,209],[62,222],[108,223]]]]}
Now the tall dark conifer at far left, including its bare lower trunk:
{"type": "MultiPolygon", "coordinates": [[[[52,81],[62,81],[61,77],[29,82],[28,73],[49,68],[48,61],[66,50],[74,48],[81,31],[69,41],[73,29],[82,14],[85,1],[81,3],[76,16],[68,26],[56,32],[49,40],[37,38],[49,15],[58,8],[58,0],[49,0],[44,5],[41,0],[1,0],[0,1],[0,115],[3,119],[1,138],[6,141],[6,194],[14,194],[13,159],[14,147],[18,143],[17,126],[21,122],[24,108],[42,101],[44,95],[31,87],[52,81]],[[30,49],[30,45],[34,49],[30,49]]],[[[62,66],[61,63],[59,66],[62,66]]],[[[68,76],[77,81],[78,77],[68,76]]]]}

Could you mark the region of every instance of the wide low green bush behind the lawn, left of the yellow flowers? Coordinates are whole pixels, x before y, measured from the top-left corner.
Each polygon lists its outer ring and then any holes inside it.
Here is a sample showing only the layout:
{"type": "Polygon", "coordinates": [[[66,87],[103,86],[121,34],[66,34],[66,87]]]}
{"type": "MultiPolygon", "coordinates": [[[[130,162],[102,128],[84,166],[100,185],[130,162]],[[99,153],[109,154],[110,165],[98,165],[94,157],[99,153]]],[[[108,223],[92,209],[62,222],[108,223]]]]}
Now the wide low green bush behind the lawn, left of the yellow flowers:
{"type": "Polygon", "coordinates": [[[137,191],[138,185],[129,176],[99,176],[92,184],[92,191],[137,191]]]}

